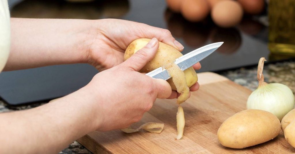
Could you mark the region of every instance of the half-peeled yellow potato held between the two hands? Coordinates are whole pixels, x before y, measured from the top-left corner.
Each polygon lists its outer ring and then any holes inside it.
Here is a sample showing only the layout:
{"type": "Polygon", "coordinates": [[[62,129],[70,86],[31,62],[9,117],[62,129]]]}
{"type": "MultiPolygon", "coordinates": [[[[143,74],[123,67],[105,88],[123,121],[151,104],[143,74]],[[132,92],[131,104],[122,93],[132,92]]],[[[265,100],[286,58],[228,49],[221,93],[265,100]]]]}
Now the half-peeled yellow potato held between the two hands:
{"type": "MultiPolygon", "coordinates": [[[[144,47],[150,39],[141,38],[134,40],[128,45],[125,50],[124,60],[130,58],[134,53],[144,47]]],[[[165,43],[159,42],[159,49],[155,57],[148,62],[141,70],[142,73],[149,73],[165,64],[173,63],[175,59],[182,56],[182,54],[174,47],[167,45],[165,43]]],[[[187,86],[191,87],[198,81],[198,76],[193,67],[190,67],[183,71],[186,76],[187,86]]],[[[176,90],[176,87],[172,81],[172,78],[168,79],[167,82],[170,84],[172,90],[176,90]]]]}

